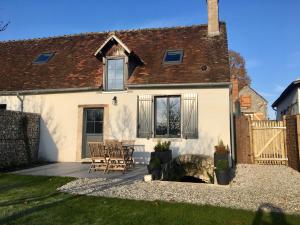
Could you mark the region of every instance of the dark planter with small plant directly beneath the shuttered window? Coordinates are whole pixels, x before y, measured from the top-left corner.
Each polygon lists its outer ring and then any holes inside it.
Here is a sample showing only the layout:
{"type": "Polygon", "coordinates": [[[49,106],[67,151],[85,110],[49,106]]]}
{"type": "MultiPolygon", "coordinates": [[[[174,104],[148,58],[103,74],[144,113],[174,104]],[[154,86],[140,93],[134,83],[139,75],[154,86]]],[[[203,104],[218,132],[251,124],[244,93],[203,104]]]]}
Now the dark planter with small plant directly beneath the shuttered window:
{"type": "Polygon", "coordinates": [[[154,147],[154,152],[151,152],[151,159],[159,158],[161,164],[165,164],[172,160],[172,150],[170,149],[170,141],[158,141],[154,147]]]}

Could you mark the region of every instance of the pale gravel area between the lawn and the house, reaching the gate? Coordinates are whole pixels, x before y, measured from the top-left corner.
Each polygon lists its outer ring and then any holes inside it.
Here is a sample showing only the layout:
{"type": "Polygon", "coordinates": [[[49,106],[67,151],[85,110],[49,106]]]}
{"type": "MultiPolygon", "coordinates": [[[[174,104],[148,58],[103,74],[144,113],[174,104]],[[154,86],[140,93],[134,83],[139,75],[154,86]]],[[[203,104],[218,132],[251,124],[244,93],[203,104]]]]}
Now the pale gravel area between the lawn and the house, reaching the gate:
{"type": "Polygon", "coordinates": [[[300,173],[286,166],[238,165],[230,185],[122,179],[78,179],[58,190],[72,194],[210,204],[300,214],[300,173]]]}

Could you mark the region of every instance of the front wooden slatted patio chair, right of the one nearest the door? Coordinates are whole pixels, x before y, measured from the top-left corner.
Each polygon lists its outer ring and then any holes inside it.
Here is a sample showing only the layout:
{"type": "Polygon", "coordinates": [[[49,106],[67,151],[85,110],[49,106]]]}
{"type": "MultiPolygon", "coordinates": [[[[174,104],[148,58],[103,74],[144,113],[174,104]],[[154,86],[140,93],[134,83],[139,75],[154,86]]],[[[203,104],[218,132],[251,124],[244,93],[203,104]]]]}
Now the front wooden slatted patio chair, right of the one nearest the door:
{"type": "Polygon", "coordinates": [[[121,170],[125,173],[127,169],[126,152],[121,142],[111,142],[106,145],[108,150],[108,167],[107,170],[121,170]]]}

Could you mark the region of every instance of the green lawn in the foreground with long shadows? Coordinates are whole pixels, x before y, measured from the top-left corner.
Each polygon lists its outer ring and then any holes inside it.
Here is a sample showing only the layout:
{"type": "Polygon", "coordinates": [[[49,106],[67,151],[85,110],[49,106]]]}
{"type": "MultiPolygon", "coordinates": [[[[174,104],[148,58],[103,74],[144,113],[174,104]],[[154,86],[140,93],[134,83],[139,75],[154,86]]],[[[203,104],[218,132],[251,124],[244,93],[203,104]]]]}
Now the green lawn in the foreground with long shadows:
{"type": "Polygon", "coordinates": [[[300,224],[300,217],[62,194],[72,180],[0,174],[0,224],[300,224]]]}

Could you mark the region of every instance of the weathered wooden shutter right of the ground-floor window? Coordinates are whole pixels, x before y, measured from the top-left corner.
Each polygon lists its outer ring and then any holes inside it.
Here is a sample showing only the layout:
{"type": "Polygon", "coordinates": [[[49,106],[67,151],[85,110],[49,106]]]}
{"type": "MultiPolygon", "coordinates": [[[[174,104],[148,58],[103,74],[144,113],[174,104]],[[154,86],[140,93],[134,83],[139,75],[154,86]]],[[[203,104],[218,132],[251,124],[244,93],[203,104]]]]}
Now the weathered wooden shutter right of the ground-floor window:
{"type": "Polygon", "coordinates": [[[197,94],[182,95],[182,137],[198,138],[197,94]]]}

